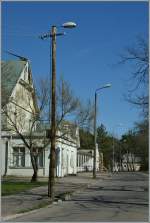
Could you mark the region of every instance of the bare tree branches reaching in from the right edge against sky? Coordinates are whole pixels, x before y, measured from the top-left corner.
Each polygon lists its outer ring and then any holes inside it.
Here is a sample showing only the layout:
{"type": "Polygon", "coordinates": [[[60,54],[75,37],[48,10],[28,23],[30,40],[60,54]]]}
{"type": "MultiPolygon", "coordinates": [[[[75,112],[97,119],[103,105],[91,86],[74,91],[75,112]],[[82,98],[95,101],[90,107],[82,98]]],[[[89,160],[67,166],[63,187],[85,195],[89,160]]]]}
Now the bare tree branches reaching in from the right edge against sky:
{"type": "Polygon", "coordinates": [[[121,64],[130,63],[133,67],[130,78],[131,87],[125,99],[142,109],[145,117],[148,116],[148,73],[149,50],[148,41],[138,37],[135,47],[127,47],[121,55],[121,64]]]}

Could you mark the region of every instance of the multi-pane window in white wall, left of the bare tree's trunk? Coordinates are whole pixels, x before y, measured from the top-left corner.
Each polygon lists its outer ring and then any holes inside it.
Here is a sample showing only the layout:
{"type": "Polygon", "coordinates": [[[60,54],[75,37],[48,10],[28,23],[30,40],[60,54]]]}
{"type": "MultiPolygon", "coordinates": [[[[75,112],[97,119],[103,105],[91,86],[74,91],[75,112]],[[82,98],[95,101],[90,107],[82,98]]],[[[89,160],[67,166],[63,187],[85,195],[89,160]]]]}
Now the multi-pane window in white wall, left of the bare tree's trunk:
{"type": "Polygon", "coordinates": [[[13,148],[13,166],[14,167],[25,166],[25,148],[24,147],[13,148]]]}

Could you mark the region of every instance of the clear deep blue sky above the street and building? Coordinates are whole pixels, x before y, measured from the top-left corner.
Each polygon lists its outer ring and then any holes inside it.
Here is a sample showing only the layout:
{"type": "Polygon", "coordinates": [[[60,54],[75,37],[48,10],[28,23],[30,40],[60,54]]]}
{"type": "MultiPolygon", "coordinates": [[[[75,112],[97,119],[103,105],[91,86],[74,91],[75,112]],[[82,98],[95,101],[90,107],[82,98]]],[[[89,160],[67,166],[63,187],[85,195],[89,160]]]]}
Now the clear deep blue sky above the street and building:
{"type": "Polygon", "coordinates": [[[48,76],[50,40],[38,36],[66,21],[77,28],[57,38],[57,78],[63,75],[82,100],[94,100],[95,89],[111,83],[98,96],[97,124],[120,135],[140,116],[123,99],[132,67],[116,64],[137,36],[147,37],[148,2],[3,2],[2,59],[12,59],[3,52],[12,51],[30,59],[34,79],[48,76]]]}

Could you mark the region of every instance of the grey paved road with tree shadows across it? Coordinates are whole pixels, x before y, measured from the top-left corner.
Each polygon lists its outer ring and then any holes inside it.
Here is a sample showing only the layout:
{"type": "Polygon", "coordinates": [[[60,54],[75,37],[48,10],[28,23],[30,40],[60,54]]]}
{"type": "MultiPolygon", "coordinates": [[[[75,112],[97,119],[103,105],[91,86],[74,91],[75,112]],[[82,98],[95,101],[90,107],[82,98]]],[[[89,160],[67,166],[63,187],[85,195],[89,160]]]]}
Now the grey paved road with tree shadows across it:
{"type": "Polygon", "coordinates": [[[107,179],[98,178],[95,185],[76,193],[70,200],[39,209],[12,221],[148,222],[148,175],[115,173],[107,179]]]}

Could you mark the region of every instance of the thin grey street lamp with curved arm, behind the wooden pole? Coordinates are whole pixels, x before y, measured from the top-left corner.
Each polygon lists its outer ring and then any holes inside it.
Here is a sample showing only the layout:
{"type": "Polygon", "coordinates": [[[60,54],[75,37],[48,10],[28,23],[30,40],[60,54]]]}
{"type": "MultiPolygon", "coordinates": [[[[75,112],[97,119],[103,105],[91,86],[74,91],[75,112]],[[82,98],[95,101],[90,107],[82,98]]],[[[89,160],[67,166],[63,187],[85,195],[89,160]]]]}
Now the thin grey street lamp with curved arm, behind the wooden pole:
{"type": "Polygon", "coordinates": [[[94,159],[93,159],[93,178],[96,178],[96,138],[97,138],[97,131],[96,131],[96,116],[97,116],[97,93],[103,88],[109,88],[111,84],[105,84],[104,86],[97,88],[95,90],[95,103],[94,103],[94,159]]]}

